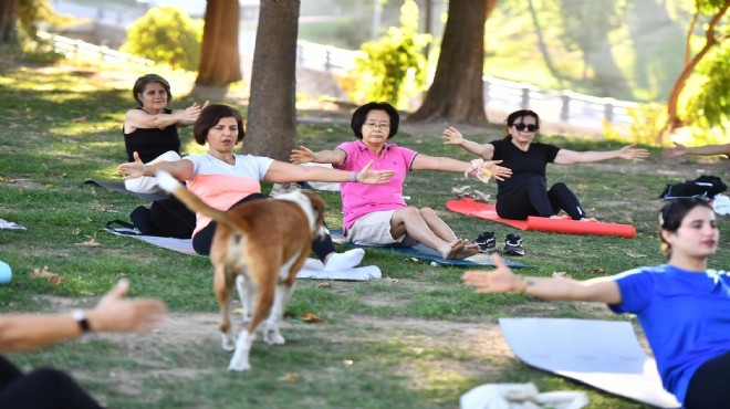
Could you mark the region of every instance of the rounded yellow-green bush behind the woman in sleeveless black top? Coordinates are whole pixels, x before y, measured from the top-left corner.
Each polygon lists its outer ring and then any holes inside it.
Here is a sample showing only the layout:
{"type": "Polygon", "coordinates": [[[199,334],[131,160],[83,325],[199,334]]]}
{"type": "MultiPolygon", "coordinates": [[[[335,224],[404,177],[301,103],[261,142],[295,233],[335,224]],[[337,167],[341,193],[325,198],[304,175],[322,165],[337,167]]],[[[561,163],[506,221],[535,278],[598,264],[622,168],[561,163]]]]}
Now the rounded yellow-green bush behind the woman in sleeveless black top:
{"type": "Polygon", "coordinates": [[[175,7],[154,7],[127,29],[121,50],[174,69],[196,71],[201,40],[202,20],[194,20],[175,7]]]}

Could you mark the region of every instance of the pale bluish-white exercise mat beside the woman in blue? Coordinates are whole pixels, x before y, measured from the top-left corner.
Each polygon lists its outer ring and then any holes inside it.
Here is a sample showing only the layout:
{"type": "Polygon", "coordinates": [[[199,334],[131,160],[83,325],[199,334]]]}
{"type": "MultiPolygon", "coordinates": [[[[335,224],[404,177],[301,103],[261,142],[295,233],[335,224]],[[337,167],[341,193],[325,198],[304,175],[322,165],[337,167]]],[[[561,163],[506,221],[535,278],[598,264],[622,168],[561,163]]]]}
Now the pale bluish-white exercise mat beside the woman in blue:
{"type": "Polygon", "coordinates": [[[504,339],[520,359],[611,394],[660,408],[679,408],[661,386],[654,358],[627,322],[500,318],[504,339]]]}

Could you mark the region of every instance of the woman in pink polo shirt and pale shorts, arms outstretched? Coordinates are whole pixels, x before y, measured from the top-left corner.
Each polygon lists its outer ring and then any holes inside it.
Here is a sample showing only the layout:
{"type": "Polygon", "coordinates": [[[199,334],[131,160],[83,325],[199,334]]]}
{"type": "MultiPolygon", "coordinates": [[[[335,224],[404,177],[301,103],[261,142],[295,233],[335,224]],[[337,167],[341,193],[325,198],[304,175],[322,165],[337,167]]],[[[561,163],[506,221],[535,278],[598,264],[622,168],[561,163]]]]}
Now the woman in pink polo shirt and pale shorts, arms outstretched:
{"type": "MultiPolygon", "coordinates": [[[[473,171],[480,167],[446,157],[432,157],[386,141],[398,133],[398,112],[387,103],[369,103],[353,114],[351,126],[357,140],[346,141],[334,150],[313,153],[306,147],[292,151],[293,164],[332,164],[336,169],[359,169],[373,162],[374,170],[395,170],[383,185],[342,183],[345,235],[354,244],[411,247],[423,243],[445,259],[466,259],[479,252],[477,244],[460,240],[430,208],[407,206],[403,182],[411,170],[473,171]]],[[[499,161],[498,161],[499,162],[499,161]]],[[[484,162],[483,168],[497,179],[509,178],[511,170],[484,162]]]]}

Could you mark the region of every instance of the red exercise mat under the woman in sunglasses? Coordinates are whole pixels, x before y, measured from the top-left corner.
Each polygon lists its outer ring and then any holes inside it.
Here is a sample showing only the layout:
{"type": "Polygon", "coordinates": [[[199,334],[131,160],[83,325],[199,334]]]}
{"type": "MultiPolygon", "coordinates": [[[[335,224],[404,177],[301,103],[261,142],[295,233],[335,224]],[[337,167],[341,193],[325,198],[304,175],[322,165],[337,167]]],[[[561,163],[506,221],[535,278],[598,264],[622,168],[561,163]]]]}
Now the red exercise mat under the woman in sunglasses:
{"type": "Polygon", "coordinates": [[[502,219],[497,216],[497,210],[492,204],[479,203],[469,198],[449,200],[446,202],[446,207],[457,213],[492,220],[520,230],[550,231],[567,234],[617,235],[627,239],[636,235],[636,229],[630,224],[586,222],[534,216],[529,217],[528,220],[502,219]]]}

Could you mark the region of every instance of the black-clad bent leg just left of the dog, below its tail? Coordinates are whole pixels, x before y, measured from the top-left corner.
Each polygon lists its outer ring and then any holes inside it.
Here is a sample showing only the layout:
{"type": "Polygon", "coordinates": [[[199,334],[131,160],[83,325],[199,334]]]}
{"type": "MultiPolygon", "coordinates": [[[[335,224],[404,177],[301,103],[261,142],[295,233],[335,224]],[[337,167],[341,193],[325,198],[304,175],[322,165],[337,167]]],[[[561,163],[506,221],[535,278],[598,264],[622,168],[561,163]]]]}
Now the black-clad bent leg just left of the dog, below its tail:
{"type": "Polygon", "coordinates": [[[195,213],[175,197],[157,200],[149,209],[139,206],[129,219],[144,235],[189,239],[195,230],[195,213]]]}

